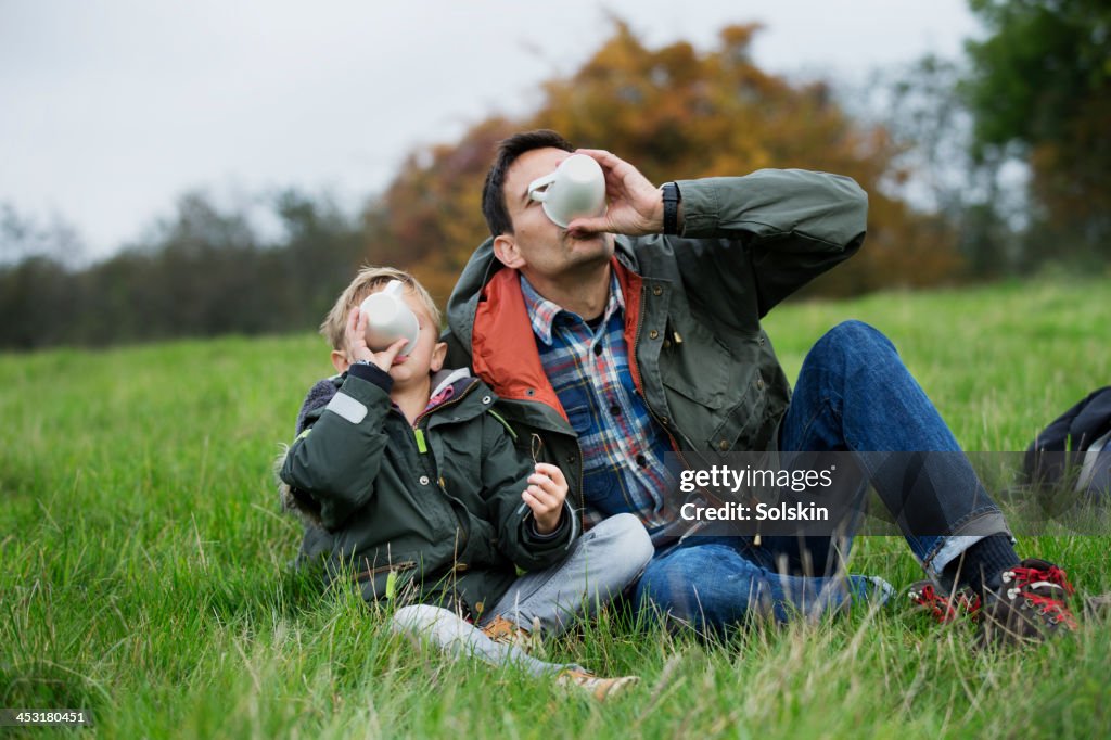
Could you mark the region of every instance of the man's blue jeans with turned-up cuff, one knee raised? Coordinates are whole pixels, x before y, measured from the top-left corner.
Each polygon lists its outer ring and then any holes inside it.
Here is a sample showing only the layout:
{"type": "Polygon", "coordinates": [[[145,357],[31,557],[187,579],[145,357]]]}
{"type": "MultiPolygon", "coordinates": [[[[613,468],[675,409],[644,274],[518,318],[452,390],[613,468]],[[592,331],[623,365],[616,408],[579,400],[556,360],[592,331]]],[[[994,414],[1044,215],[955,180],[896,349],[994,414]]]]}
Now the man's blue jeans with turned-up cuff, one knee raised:
{"type": "MultiPolygon", "coordinates": [[[[968,459],[952,454],[957,439],[894,346],[860,321],[838,324],[807,354],[779,442],[785,451],[860,453],[868,481],[933,578],[974,542],[1008,532],[968,459]],[[884,464],[884,452],[929,451],[950,454],[921,456],[913,480],[905,464],[884,464]]],[[[868,596],[870,579],[841,572],[851,544],[849,536],[765,537],[760,544],[689,537],[657,552],[637,603],[700,630],[757,616],[814,616],[868,596]]]]}

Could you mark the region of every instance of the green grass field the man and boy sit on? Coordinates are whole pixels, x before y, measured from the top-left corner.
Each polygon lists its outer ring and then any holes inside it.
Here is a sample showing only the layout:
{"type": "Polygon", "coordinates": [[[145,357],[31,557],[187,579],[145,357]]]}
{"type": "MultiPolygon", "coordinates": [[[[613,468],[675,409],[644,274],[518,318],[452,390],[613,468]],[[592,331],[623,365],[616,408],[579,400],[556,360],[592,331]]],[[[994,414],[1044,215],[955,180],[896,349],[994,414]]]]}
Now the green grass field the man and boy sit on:
{"type": "MultiPolygon", "coordinates": [[[[848,318],[892,338],[972,450],[1022,450],[1111,383],[1111,279],[782,307],[767,323],[788,376],[848,318]]],[[[278,512],[270,461],[329,371],[314,336],[0,356],[0,708],[84,708],[123,738],[1111,733],[1107,618],[974,652],[971,626],[901,606],[720,644],[603,614],[546,644],[642,677],[603,706],[414,649],[287,568],[300,526],[278,512]]],[[[1020,543],[1081,593],[1111,590],[1109,551],[1111,537],[1020,543]]],[[[920,572],[894,538],[858,541],[851,568],[897,586],[920,572]]]]}

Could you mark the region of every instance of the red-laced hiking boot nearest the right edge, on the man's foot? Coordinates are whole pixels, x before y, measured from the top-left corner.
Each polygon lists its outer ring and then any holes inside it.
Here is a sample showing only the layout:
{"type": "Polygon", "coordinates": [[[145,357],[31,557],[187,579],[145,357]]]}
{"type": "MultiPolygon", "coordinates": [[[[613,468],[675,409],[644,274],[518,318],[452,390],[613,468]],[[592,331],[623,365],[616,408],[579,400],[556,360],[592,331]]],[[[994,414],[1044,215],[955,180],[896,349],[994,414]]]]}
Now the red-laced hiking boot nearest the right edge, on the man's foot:
{"type": "Polygon", "coordinates": [[[1072,584],[1053,563],[1028,558],[1000,573],[998,584],[987,588],[984,641],[1037,641],[1077,630],[1067,602],[1072,584]]]}

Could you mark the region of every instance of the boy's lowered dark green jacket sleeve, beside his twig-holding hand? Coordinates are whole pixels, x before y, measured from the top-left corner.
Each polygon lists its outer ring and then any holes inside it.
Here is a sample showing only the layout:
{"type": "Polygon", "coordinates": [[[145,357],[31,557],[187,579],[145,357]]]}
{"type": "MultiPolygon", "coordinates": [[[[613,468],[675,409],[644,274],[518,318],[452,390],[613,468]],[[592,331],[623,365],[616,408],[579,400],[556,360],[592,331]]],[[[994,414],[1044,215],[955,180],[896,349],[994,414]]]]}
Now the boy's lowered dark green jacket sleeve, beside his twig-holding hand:
{"type": "Polygon", "coordinates": [[[540,570],[559,562],[579,536],[574,511],[564,501],[556,530],[540,534],[532,511],[521,498],[533,472],[501,423],[489,416],[483,428],[482,482],[488,491],[490,521],[498,531],[498,548],[524,570],[540,570]]]}

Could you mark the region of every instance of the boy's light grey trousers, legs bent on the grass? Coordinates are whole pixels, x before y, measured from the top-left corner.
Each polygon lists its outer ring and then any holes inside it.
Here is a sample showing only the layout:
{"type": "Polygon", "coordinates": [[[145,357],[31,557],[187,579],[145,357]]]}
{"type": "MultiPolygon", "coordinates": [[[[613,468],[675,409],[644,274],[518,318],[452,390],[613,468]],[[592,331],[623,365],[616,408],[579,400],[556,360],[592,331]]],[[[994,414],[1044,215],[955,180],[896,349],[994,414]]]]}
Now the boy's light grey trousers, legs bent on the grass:
{"type": "MultiPolygon", "coordinates": [[[[526,631],[539,622],[544,633],[559,634],[575,617],[590,616],[599,604],[620,596],[651,557],[652,542],[637,517],[610,517],[575,540],[564,560],[517,579],[479,627],[502,617],[526,631]]],[[[423,637],[449,654],[496,666],[516,662],[537,676],[579,668],[547,663],[514,646],[494,642],[479,627],[440,607],[402,607],[393,614],[391,627],[423,637]]]]}

